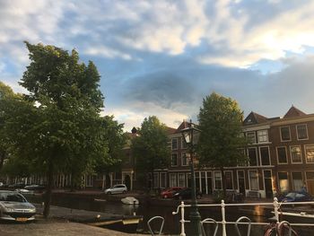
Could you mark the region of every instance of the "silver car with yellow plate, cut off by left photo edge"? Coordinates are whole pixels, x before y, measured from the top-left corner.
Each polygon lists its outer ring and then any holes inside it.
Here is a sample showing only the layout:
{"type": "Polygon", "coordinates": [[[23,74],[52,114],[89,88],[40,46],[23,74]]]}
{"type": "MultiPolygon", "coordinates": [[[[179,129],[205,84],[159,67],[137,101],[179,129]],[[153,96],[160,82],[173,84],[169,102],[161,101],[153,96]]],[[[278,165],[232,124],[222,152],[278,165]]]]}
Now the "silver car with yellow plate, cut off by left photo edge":
{"type": "Polygon", "coordinates": [[[35,219],[36,208],[16,191],[0,190],[0,219],[27,222],[35,219]]]}

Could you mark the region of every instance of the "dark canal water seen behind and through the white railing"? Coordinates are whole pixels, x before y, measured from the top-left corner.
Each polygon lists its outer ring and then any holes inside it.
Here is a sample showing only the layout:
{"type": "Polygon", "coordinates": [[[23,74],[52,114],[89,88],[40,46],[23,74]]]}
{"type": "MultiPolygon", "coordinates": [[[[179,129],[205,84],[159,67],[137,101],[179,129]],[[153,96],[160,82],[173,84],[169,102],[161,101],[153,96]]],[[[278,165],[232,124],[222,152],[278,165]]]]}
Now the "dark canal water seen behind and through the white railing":
{"type": "MultiPolygon", "coordinates": [[[[167,199],[166,201],[171,201],[167,199]]],[[[83,197],[54,197],[53,205],[59,205],[74,209],[83,209],[88,211],[96,211],[96,212],[104,212],[109,214],[125,214],[125,215],[143,215],[144,221],[138,225],[138,232],[148,233],[147,221],[151,219],[153,216],[160,215],[165,219],[163,233],[171,234],[171,235],[179,235],[180,233],[180,224],[179,224],[179,214],[172,215],[173,211],[177,210],[177,206],[175,205],[124,205],[120,202],[111,202],[111,201],[103,201],[103,200],[95,200],[93,198],[83,198],[83,197]]],[[[189,208],[186,208],[185,218],[188,220],[189,208]]],[[[222,220],[221,209],[216,207],[202,207],[200,208],[200,214],[202,219],[205,218],[214,218],[216,221],[222,220]]],[[[245,208],[238,206],[229,206],[226,208],[226,221],[236,221],[240,216],[247,216],[251,219],[252,222],[267,222],[267,218],[271,217],[270,211],[262,211],[258,206],[253,208],[245,208]],[[252,214],[255,212],[256,214],[252,214]],[[257,215],[262,214],[262,215],[257,215]]],[[[291,219],[283,219],[291,222],[291,219]]],[[[294,219],[295,220],[295,219],[294,219]]],[[[302,223],[293,222],[293,223],[302,223]]],[[[309,222],[308,222],[309,223],[309,222]]],[[[314,223],[314,222],[311,222],[314,223]]],[[[186,224],[186,231],[189,232],[188,223],[186,224]]],[[[160,227],[160,223],[154,223],[153,229],[158,230],[160,227]]],[[[264,227],[262,225],[253,225],[251,228],[251,234],[253,236],[263,236],[264,235],[264,227]]],[[[240,227],[242,235],[246,234],[247,226],[240,227]]],[[[314,228],[312,227],[297,227],[294,228],[299,235],[301,236],[312,236],[314,235],[314,228]]],[[[207,224],[206,226],[206,235],[213,235],[214,225],[207,224]]],[[[219,226],[217,236],[222,235],[221,225],[219,226]]],[[[187,233],[187,235],[190,235],[187,233]]],[[[237,235],[235,231],[234,225],[227,225],[227,235],[237,235]]]]}

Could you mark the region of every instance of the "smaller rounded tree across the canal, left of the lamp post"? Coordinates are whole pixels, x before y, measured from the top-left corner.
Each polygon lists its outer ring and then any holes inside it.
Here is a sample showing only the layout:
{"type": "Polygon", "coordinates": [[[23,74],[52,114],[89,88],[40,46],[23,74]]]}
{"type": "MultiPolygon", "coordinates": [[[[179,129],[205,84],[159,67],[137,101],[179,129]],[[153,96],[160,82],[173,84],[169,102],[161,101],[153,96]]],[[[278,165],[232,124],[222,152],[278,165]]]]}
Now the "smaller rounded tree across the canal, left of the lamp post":
{"type": "MultiPolygon", "coordinates": [[[[132,140],[131,150],[135,157],[136,170],[147,176],[154,169],[165,168],[170,163],[167,129],[160,120],[153,116],[144,118],[138,136],[132,140]]],[[[153,188],[154,182],[152,181],[153,188]]]]}

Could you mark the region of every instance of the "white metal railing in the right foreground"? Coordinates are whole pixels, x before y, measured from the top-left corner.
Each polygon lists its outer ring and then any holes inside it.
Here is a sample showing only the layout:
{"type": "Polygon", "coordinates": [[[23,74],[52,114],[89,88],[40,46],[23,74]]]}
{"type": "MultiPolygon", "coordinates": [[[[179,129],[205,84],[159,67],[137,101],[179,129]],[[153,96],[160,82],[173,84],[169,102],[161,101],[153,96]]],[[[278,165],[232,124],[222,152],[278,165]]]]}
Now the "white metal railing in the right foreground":
{"type": "MultiPolygon", "coordinates": [[[[216,223],[216,224],[222,224],[222,236],[227,236],[227,231],[226,231],[226,225],[227,224],[249,224],[249,229],[250,229],[250,225],[269,225],[269,223],[255,223],[255,222],[240,222],[240,218],[241,220],[243,218],[248,218],[248,217],[243,217],[241,216],[238,221],[236,222],[227,222],[226,221],[226,206],[249,206],[249,205],[270,205],[272,207],[274,207],[274,215],[275,215],[275,222],[276,224],[280,224],[283,223],[280,221],[280,217],[279,215],[292,215],[292,216],[311,216],[313,217],[314,220],[314,214],[306,214],[306,213],[284,213],[280,210],[282,205],[314,205],[314,202],[292,202],[292,203],[284,203],[284,202],[278,202],[278,199],[275,197],[274,198],[274,202],[268,202],[268,203],[239,203],[239,204],[225,204],[224,200],[222,200],[221,204],[199,204],[197,205],[198,207],[212,207],[212,206],[220,206],[221,207],[221,211],[222,211],[222,221],[221,222],[216,222],[214,221],[214,219],[211,218],[207,218],[205,220],[202,221],[203,223],[216,223]]],[[[181,224],[181,232],[180,232],[180,236],[186,236],[186,230],[185,230],[185,224],[186,223],[190,223],[189,220],[185,219],[185,207],[191,207],[191,205],[185,205],[184,202],[181,202],[181,204],[178,206],[177,211],[176,212],[172,212],[172,214],[179,214],[180,212],[180,220],[179,223],[181,224]]],[[[287,223],[287,222],[284,222],[287,223]]],[[[290,226],[314,226],[314,223],[287,223],[290,226]]]]}

